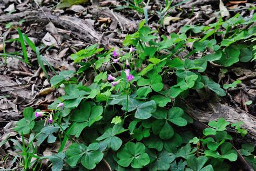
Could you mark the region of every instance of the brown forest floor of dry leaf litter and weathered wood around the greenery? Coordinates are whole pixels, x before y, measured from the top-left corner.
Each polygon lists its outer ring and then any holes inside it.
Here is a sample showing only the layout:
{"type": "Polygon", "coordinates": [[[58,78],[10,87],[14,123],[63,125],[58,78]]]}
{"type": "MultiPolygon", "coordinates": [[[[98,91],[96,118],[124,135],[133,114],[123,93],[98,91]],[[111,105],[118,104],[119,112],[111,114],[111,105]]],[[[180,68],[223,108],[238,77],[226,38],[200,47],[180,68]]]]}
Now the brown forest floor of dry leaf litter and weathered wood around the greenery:
{"type": "MultiPolygon", "coordinates": [[[[161,35],[166,36],[180,32],[184,25],[215,23],[220,17],[219,3],[219,0],[184,2],[176,0],[173,1],[170,9],[164,11],[164,3],[154,1],[147,4],[145,17],[143,9],[138,11],[124,1],[90,2],[62,9],[56,8],[58,2],[48,0],[1,1],[0,142],[7,136],[17,135],[17,132],[12,131],[11,128],[15,121],[23,117],[22,111],[25,107],[46,110],[48,105],[64,94],[63,88],[51,87],[50,78],[59,71],[78,70],[78,64],[73,63],[70,58],[71,54],[96,43],[106,50],[112,47],[122,48],[125,36],[136,32],[139,23],[145,18],[151,29],[158,30],[161,35]],[[170,17],[163,20],[161,15],[170,17]],[[24,51],[18,39],[18,28],[38,47],[47,74],[38,64],[38,56],[30,47],[26,48],[26,56],[30,64],[24,61],[22,56],[24,51]]],[[[229,11],[225,19],[233,17],[236,13],[240,13],[242,17],[252,17],[254,9],[249,9],[256,4],[250,0],[223,1],[223,3],[224,8],[229,11]]],[[[190,43],[187,43],[187,46],[189,45],[190,43]]],[[[184,57],[188,53],[183,51],[179,55],[184,57]]],[[[254,64],[253,62],[237,63],[229,67],[226,74],[220,73],[221,66],[218,64],[213,63],[207,67],[208,77],[220,85],[231,84],[234,80],[241,80],[242,83],[237,87],[226,89],[227,95],[218,98],[218,103],[212,101],[214,95],[188,97],[186,102],[191,108],[186,112],[204,123],[220,117],[227,121],[244,121],[248,135],[246,139],[240,138],[236,143],[244,141],[255,143],[254,64]],[[212,109],[209,109],[208,104],[212,105],[212,109]],[[208,113],[212,115],[209,117],[208,113]]],[[[86,77],[90,78],[90,76],[86,77]]]]}

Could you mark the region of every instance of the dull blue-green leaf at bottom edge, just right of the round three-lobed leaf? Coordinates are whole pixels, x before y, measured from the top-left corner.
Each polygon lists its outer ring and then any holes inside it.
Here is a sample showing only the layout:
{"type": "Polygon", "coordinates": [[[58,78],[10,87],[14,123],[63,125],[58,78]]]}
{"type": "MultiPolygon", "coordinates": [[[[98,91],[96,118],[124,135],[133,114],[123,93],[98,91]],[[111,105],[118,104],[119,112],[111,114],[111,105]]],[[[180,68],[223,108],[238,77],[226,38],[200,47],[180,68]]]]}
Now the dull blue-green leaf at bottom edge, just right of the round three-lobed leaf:
{"type": "Polygon", "coordinates": [[[168,170],[170,168],[170,163],[176,159],[173,153],[167,151],[161,151],[154,158],[154,162],[150,164],[150,170],[168,170]]]}

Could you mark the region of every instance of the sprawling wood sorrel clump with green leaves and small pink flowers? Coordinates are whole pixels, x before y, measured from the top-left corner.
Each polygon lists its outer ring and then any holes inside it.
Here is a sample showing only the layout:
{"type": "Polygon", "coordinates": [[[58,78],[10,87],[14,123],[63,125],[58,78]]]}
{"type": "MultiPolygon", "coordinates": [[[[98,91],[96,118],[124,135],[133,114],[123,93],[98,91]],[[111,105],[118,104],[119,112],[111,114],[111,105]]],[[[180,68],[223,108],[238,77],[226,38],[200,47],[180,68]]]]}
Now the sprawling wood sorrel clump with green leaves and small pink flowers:
{"type": "MultiPolygon", "coordinates": [[[[234,35],[227,32],[241,19],[235,16],[207,27],[185,26],[181,33],[172,33],[169,38],[160,38],[157,31],[142,22],[138,31],[124,40],[126,49],[130,48],[127,53],[114,49],[103,52],[97,45],[80,50],[71,55],[79,70],[61,71],[50,81],[56,88],[62,85],[65,95],[48,106],[51,112],[26,109],[16,130],[19,134],[37,134],[37,146],[46,141],[60,143],[56,155],[35,161],[49,158],[52,170],[62,169],[63,165],[67,169],[94,169],[103,159],[112,170],[228,170],[231,165],[226,161],[236,161],[237,152],[225,130],[234,126],[244,136],[241,123],[211,121],[204,136],[198,138],[186,131],[193,119],[179,104],[191,91],[208,88],[220,96],[226,94],[204,74],[209,62],[226,67],[252,59],[240,57],[244,46],[232,45],[250,38],[252,29],[237,30],[234,35]],[[214,37],[221,26],[225,39],[217,43],[214,37]],[[190,34],[200,30],[204,37],[187,38],[189,30],[190,34]],[[194,42],[190,54],[201,52],[203,56],[192,60],[188,54],[179,58],[178,54],[186,50],[185,42],[194,42]],[[212,53],[206,53],[208,49],[212,53]],[[46,118],[49,124],[39,118],[46,118]]],[[[255,15],[246,24],[254,20],[255,15]]],[[[246,48],[251,51],[250,46],[246,48]]],[[[252,161],[249,150],[248,160],[252,161]]]]}

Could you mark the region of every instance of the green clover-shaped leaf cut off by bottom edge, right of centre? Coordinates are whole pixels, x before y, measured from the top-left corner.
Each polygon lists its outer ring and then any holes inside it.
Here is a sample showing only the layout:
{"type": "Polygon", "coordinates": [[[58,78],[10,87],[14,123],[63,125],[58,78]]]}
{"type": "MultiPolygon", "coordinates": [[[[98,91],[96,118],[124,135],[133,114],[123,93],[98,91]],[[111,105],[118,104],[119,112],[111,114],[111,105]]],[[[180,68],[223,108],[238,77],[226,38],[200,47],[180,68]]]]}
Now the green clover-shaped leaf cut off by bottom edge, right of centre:
{"type": "Polygon", "coordinates": [[[191,155],[187,158],[187,165],[193,171],[213,171],[212,165],[207,165],[204,167],[207,160],[208,158],[206,156],[199,156],[196,158],[196,156],[191,155]]]}

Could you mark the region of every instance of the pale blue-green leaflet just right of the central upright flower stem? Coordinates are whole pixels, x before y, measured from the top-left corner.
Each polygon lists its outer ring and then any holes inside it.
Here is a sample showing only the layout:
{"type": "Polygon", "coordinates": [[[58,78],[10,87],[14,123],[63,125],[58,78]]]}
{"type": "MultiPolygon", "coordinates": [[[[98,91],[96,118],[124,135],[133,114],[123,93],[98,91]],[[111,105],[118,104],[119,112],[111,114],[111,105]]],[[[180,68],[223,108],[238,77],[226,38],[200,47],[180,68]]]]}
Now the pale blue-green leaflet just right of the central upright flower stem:
{"type": "Polygon", "coordinates": [[[152,113],[157,109],[156,102],[153,100],[139,104],[137,111],[135,112],[134,117],[138,119],[147,119],[150,118],[152,113]]]}

